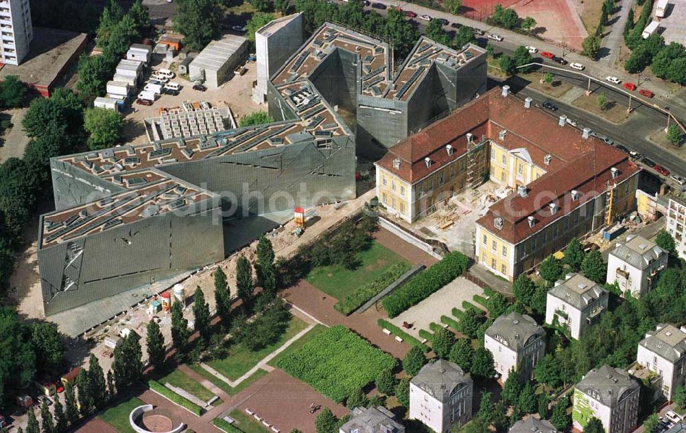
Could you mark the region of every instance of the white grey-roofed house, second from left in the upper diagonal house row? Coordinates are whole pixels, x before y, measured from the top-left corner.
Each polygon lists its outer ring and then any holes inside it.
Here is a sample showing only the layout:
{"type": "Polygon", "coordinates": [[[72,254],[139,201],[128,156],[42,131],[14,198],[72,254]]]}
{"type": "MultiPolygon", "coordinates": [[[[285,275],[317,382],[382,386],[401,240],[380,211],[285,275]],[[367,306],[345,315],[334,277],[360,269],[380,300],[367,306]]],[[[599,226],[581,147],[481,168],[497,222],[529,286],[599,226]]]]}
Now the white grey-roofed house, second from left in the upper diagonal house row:
{"type": "Polygon", "coordinates": [[[545,355],[545,331],[531,316],[511,312],[486,329],[484,347],[493,354],[495,371],[504,383],[514,370],[521,379],[532,378],[534,366],[545,355]]]}

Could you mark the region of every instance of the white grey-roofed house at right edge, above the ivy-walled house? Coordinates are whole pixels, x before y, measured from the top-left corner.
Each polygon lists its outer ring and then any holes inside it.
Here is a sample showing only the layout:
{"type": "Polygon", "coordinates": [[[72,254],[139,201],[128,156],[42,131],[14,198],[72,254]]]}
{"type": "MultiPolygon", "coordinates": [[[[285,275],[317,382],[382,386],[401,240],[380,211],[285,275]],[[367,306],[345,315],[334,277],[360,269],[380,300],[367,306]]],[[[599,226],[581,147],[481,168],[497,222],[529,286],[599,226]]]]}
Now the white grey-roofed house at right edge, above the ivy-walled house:
{"type": "Polygon", "coordinates": [[[674,325],[657,325],[639,342],[636,361],[662,377],[662,394],[672,400],[677,386],[686,385],[684,364],[686,357],[686,329],[674,325]]]}

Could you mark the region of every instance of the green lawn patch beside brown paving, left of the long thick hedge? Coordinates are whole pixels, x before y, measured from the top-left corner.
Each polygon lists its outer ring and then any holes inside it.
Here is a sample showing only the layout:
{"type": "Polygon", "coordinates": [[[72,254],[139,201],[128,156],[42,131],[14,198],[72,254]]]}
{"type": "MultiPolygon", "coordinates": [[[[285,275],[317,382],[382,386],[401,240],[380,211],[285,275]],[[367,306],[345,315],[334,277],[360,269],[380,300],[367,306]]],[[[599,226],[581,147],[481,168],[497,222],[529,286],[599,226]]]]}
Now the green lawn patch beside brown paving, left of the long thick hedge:
{"type": "Polygon", "coordinates": [[[346,270],[342,266],[322,266],[311,270],[306,279],[322,292],[326,292],[335,299],[343,299],[359,285],[383,274],[393,264],[405,261],[376,242],[368,250],[358,253],[357,258],[360,265],[355,270],[346,270]]]}

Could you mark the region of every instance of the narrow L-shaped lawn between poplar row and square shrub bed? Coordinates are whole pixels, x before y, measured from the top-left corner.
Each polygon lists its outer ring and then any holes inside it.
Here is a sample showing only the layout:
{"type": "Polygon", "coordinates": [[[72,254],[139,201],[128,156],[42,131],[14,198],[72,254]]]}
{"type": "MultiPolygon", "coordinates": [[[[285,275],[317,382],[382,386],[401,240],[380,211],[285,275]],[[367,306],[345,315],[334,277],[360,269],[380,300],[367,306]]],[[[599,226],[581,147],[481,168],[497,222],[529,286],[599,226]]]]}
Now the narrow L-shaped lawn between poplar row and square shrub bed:
{"type": "Polygon", "coordinates": [[[247,373],[250,368],[254,367],[258,362],[260,362],[265,356],[283,346],[283,343],[293,338],[296,333],[302,331],[306,327],[307,323],[303,322],[303,320],[300,320],[299,318],[293,317],[291,318],[288,328],[283,333],[281,338],[279,338],[279,341],[275,342],[274,344],[271,344],[270,346],[265,347],[261,351],[257,352],[251,352],[241,346],[241,344],[231,344],[228,348],[228,357],[224,358],[223,360],[208,361],[206,364],[231,380],[238,379],[247,373]]]}

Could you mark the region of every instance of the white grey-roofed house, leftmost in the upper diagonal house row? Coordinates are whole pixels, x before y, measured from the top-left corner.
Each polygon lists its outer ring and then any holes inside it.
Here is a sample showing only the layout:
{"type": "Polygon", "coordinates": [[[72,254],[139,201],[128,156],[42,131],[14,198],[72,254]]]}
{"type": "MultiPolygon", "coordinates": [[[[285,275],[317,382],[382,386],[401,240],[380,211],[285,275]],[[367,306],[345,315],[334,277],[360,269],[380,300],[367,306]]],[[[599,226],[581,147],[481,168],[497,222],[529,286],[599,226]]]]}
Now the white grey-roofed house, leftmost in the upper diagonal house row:
{"type": "Polygon", "coordinates": [[[410,381],[410,419],[434,432],[448,432],[472,417],[473,382],[453,362],[438,360],[422,367],[410,381]]]}

